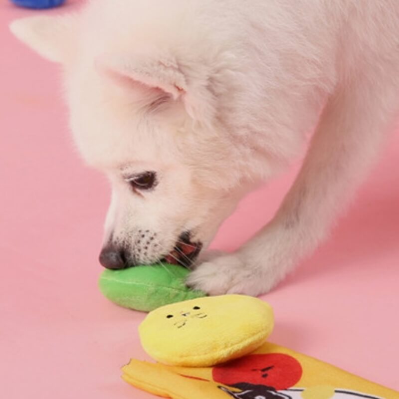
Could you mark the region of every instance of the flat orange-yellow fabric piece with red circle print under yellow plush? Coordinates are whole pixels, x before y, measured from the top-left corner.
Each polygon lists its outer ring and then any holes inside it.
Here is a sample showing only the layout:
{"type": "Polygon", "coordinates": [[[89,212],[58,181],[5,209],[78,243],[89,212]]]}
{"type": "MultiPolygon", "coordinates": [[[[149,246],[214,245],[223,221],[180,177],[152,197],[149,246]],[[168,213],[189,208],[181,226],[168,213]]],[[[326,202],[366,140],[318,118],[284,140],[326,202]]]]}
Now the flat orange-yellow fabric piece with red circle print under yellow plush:
{"type": "Polygon", "coordinates": [[[271,343],[215,367],[131,360],[122,370],[129,384],[173,399],[399,399],[396,391],[271,343]]]}

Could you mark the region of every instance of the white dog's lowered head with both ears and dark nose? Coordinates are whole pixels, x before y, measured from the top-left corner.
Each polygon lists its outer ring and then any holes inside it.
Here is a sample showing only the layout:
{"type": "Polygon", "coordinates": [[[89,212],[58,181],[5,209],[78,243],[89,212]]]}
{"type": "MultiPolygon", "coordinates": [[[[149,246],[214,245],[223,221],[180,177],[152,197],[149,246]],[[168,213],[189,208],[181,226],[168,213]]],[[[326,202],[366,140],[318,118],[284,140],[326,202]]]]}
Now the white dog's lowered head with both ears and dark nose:
{"type": "Polygon", "coordinates": [[[101,263],[188,265],[247,190],[256,157],[228,128],[228,54],[185,47],[165,24],[147,31],[134,13],[125,24],[94,3],[11,30],[62,64],[77,147],[111,182],[101,263]]]}

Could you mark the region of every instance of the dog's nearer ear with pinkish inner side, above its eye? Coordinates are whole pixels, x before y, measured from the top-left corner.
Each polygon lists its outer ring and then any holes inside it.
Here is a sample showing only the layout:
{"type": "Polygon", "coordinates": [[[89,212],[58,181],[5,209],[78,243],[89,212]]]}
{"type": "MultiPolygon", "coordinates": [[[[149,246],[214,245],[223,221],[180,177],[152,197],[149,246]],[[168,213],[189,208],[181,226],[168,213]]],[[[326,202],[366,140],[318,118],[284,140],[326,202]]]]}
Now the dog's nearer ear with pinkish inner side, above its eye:
{"type": "Polygon", "coordinates": [[[135,90],[164,103],[181,101],[193,119],[207,124],[213,119],[215,99],[208,90],[207,79],[187,76],[172,57],[101,56],[95,60],[95,68],[125,90],[135,90]]]}

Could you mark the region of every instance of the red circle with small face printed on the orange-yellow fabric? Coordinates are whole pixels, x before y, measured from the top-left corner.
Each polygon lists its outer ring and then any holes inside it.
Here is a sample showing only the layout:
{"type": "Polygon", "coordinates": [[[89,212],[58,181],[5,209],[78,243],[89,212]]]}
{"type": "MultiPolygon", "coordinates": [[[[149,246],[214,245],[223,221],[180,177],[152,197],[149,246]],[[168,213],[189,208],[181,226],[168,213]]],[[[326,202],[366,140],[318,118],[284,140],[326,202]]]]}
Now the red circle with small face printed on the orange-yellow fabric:
{"type": "Polygon", "coordinates": [[[282,353],[248,355],[223,365],[215,366],[212,377],[224,385],[248,383],[264,385],[275,390],[293,387],[302,376],[300,363],[282,353]]]}

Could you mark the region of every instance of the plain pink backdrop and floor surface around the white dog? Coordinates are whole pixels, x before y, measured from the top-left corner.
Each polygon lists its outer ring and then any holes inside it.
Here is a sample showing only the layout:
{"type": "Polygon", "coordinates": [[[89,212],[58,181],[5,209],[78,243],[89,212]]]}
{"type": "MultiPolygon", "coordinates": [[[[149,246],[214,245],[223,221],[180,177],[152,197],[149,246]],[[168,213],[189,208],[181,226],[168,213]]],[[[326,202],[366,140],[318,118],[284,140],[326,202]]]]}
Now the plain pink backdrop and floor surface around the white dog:
{"type": "MultiPolygon", "coordinates": [[[[148,359],[144,314],[97,289],[107,183],[73,150],[57,68],[7,29],[30,13],[0,0],[1,397],[153,398],[119,370],[148,359]]],[[[328,242],[263,297],[276,313],[272,341],[396,390],[398,136],[328,242]]],[[[292,175],[244,200],[214,246],[234,248],[268,220],[292,175]]]]}

